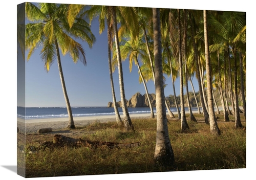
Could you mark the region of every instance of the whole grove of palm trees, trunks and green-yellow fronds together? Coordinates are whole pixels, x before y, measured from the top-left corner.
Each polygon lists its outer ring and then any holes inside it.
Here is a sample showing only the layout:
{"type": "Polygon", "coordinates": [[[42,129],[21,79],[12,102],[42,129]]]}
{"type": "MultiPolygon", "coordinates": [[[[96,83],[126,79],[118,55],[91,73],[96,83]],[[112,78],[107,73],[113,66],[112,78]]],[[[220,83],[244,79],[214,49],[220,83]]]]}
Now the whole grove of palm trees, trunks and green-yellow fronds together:
{"type": "MultiPolygon", "coordinates": [[[[144,84],[151,118],[155,118],[146,83],[155,84],[157,104],[157,143],[155,159],[163,165],[174,165],[174,153],[170,144],[166,108],[174,117],[164,96],[165,82],[170,77],[174,100],[181,120],[181,129],[189,129],[184,110],[184,94],[187,96],[191,121],[197,121],[189,103],[188,81],[195,76],[199,84],[200,104],[204,120],[214,134],[220,134],[215,116],[214,91],[218,91],[225,121],[228,114],[236,117],[235,127],[240,121],[239,97],[246,116],[246,13],[202,11],[164,8],[137,8],[118,6],[88,6],[26,3],[26,48],[30,58],[35,48],[42,46],[41,58],[47,71],[55,57],[69,112],[69,128],[75,128],[65,81],[61,70],[60,51],[70,54],[73,61],[86,64],[84,50],[73,37],[78,37],[92,47],[95,37],[90,22],[99,20],[99,32],[108,31],[109,70],[113,103],[118,123],[126,130],[134,130],[125,103],[122,61],[129,60],[138,68],[138,80],[144,84]],[[84,20],[88,19],[88,21],[84,20]],[[59,51],[60,50],[60,51],[59,51]],[[111,57],[112,55],[112,57],[111,57]],[[239,68],[238,68],[239,67],[239,68]],[[112,73],[118,69],[123,121],[116,107],[112,73]],[[180,78],[180,104],[176,99],[174,82],[180,78]],[[185,88],[183,88],[185,87],[185,88]],[[229,100],[227,99],[229,96],[229,100]],[[232,112],[229,109],[232,108],[232,112]],[[179,107],[181,110],[179,110],[179,107]]],[[[195,94],[195,92],[194,92],[195,94]]],[[[196,98],[195,98],[196,99],[196,98]]],[[[218,106],[217,106],[218,107],[218,106]]]]}

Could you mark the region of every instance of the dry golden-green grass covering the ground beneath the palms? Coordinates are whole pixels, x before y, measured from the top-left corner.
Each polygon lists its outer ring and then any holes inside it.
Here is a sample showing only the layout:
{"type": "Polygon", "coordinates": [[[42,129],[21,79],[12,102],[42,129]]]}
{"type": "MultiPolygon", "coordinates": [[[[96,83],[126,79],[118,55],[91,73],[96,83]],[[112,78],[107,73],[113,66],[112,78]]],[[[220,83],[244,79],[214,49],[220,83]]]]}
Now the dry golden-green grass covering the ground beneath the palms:
{"type": "MultiPolygon", "coordinates": [[[[202,115],[194,116],[202,119],[202,115]]],[[[109,149],[103,146],[91,149],[65,146],[36,153],[19,151],[18,154],[25,156],[26,177],[246,168],[246,122],[243,116],[241,115],[241,120],[244,128],[239,129],[234,128],[233,117],[230,116],[230,122],[224,122],[222,115],[218,117],[221,130],[221,136],[218,137],[210,133],[209,125],[203,121],[195,123],[187,118],[190,129],[182,133],[180,121],[169,120],[168,130],[175,155],[175,168],[154,165],[156,120],[153,119],[133,119],[135,132],[125,132],[115,122],[95,122],[77,127],[73,135],[66,135],[92,141],[139,141],[139,147],[109,149]]],[[[52,141],[53,136],[54,134],[29,134],[26,137],[26,148],[37,146],[38,142],[52,141]]],[[[19,167],[24,167],[23,161],[18,161],[19,167]]]]}

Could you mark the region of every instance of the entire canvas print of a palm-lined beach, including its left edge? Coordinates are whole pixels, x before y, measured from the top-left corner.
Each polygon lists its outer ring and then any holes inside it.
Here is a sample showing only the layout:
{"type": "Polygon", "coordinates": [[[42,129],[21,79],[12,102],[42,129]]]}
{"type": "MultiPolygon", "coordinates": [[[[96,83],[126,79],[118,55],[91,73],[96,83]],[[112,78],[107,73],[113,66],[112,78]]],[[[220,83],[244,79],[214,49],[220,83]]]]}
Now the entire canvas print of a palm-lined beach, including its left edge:
{"type": "Polygon", "coordinates": [[[17,5],[17,174],[246,168],[246,12],[17,5]]]}

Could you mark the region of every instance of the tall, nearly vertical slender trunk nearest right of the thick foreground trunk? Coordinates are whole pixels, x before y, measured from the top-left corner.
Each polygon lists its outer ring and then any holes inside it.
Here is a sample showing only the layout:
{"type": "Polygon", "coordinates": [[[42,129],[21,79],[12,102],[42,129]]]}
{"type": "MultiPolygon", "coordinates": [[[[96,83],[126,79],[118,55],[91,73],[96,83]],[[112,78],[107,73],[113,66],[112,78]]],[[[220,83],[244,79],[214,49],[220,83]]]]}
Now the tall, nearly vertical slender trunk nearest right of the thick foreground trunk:
{"type": "Polygon", "coordinates": [[[180,65],[180,108],[181,108],[181,129],[189,129],[184,107],[184,93],[183,93],[183,71],[182,71],[182,54],[181,54],[181,22],[180,22],[180,10],[178,9],[178,31],[179,31],[179,65],[180,65]]]}

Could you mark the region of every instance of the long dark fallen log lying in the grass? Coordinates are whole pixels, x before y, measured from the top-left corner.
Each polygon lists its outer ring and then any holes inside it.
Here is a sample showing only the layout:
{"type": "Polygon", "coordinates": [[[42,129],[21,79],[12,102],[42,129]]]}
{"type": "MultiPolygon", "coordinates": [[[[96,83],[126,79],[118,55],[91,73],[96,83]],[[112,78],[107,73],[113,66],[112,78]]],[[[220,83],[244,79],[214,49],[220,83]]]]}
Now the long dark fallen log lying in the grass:
{"type": "Polygon", "coordinates": [[[132,148],[140,146],[140,142],[122,144],[122,143],[114,143],[114,142],[105,142],[105,141],[90,141],[90,140],[82,140],[81,138],[75,139],[66,137],[60,134],[56,134],[53,137],[53,141],[45,141],[40,143],[39,149],[45,149],[46,147],[60,147],[60,146],[76,146],[76,147],[89,147],[89,148],[97,148],[97,147],[108,147],[108,148],[132,148]]]}

